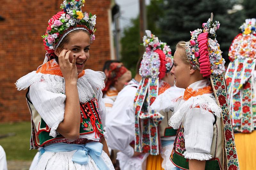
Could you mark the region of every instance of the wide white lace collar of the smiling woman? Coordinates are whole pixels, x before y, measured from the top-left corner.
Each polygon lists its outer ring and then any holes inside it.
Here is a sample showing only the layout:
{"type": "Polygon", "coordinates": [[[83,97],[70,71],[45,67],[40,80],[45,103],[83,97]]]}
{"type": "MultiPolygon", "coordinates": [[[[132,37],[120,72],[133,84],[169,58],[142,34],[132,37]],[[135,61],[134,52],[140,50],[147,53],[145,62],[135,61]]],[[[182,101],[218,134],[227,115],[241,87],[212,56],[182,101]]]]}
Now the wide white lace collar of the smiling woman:
{"type": "MultiPolygon", "coordinates": [[[[79,102],[86,103],[90,101],[101,89],[104,89],[105,78],[106,75],[103,72],[96,72],[90,69],[85,70],[85,75],[77,80],[79,102]]],[[[31,84],[35,84],[37,90],[45,89],[52,93],[65,94],[65,80],[58,75],[42,74],[33,71],[21,77],[15,83],[18,90],[25,90],[31,84]]]]}

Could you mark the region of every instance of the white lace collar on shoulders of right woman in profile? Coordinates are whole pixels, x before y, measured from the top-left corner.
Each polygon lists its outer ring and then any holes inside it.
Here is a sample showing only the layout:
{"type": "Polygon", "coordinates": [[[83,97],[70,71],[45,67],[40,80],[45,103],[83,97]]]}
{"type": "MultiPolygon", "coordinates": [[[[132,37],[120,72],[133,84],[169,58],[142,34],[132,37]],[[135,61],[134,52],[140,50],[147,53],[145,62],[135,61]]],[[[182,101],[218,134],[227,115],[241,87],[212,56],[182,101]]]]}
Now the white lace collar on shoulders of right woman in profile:
{"type": "Polygon", "coordinates": [[[168,124],[173,129],[178,129],[185,115],[190,108],[198,108],[202,114],[206,114],[211,111],[215,116],[220,117],[221,108],[218,106],[215,97],[212,94],[204,94],[200,96],[190,97],[187,101],[180,98],[172,112],[172,117],[168,121],[168,124]]]}

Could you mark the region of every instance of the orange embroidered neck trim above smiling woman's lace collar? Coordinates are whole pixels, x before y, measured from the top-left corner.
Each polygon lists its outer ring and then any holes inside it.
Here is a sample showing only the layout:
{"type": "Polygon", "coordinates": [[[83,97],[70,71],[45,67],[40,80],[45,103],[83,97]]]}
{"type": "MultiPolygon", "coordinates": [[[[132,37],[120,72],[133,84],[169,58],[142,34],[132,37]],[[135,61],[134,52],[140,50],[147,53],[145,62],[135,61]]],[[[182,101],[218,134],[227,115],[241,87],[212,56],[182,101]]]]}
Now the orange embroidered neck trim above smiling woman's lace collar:
{"type": "MultiPolygon", "coordinates": [[[[60,65],[56,62],[56,60],[52,59],[46,63],[44,63],[37,71],[36,73],[42,73],[42,74],[51,74],[51,75],[58,75],[63,77],[60,65]]],[[[78,74],[78,78],[82,77],[84,75],[84,70],[78,74]]]]}

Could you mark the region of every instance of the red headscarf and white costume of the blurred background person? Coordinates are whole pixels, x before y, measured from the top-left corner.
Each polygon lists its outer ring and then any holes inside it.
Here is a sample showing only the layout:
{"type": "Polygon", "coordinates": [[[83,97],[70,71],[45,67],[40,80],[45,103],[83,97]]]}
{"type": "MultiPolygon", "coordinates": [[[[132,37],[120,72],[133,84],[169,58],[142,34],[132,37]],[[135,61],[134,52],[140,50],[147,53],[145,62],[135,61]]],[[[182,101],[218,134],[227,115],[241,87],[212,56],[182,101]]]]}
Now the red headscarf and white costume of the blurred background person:
{"type": "Polygon", "coordinates": [[[122,63],[111,63],[109,66],[107,81],[106,81],[106,87],[102,90],[103,92],[103,101],[105,102],[107,115],[109,111],[111,110],[113,103],[116,100],[118,91],[113,86],[114,83],[117,81],[118,78],[120,78],[124,73],[126,73],[128,70],[122,63]]]}

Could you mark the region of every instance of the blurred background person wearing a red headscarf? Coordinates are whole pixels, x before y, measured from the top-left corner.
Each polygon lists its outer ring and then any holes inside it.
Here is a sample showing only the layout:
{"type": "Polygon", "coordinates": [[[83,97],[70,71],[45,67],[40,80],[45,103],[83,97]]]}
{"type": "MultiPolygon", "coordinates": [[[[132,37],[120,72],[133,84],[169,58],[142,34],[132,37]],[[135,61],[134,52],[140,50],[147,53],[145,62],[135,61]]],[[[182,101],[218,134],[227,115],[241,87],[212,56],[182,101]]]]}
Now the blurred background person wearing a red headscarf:
{"type": "Polygon", "coordinates": [[[116,100],[117,94],[132,79],[132,73],[122,63],[111,63],[105,88],[102,89],[107,115],[116,100]]]}

